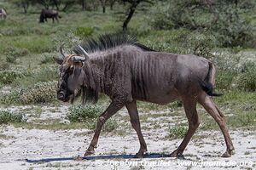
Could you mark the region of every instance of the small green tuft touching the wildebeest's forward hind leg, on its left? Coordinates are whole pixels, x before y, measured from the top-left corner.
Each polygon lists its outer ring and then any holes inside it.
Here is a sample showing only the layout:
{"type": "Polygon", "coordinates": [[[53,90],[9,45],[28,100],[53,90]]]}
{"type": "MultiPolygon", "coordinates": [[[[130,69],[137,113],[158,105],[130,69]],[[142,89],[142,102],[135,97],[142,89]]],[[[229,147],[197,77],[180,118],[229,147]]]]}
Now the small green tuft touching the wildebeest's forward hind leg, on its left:
{"type": "Polygon", "coordinates": [[[168,137],[172,138],[172,139],[182,139],[185,136],[185,134],[187,133],[187,131],[188,131],[188,127],[177,124],[177,125],[175,125],[175,127],[169,127],[168,137]]]}

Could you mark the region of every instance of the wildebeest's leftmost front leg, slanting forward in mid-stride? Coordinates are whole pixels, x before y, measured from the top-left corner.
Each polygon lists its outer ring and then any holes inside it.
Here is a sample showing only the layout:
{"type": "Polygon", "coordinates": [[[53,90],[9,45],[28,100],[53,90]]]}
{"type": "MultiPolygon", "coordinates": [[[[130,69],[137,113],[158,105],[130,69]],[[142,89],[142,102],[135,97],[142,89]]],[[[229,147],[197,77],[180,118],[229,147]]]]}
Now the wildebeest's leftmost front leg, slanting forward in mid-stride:
{"type": "Polygon", "coordinates": [[[108,120],[108,118],[113,116],[123,106],[124,106],[124,104],[121,104],[119,102],[114,102],[113,101],[108,106],[108,109],[106,111],[104,111],[101,116],[98,117],[97,124],[96,124],[96,132],[94,133],[93,139],[90,142],[90,146],[85,151],[84,156],[89,156],[89,155],[94,153],[94,149],[96,148],[96,144],[98,142],[98,139],[99,139],[99,136],[100,136],[100,133],[101,133],[101,130],[102,130],[102,126],[108,120]]]}

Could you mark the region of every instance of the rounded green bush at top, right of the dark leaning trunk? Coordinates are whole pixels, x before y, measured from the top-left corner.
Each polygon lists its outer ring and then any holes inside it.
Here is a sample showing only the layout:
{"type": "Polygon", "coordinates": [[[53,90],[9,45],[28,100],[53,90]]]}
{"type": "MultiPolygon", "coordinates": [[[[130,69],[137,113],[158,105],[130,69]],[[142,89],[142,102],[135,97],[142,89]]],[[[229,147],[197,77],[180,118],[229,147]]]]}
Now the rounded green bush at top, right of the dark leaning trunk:
{"type": "Polygon", "coordinates": [[[212,16],[200,8],[196,1],[169,0],[157,3],[151,9],[150,20],[156,29],[186,27],[190,30],[210,25],[212,16]]]}

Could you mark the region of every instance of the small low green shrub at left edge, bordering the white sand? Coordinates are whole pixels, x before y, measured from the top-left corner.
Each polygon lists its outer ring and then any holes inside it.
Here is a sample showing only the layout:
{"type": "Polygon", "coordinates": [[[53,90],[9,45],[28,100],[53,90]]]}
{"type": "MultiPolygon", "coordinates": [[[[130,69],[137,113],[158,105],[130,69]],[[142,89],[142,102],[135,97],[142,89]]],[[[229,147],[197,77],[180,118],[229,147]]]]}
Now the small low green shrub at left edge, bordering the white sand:
{"type": "Polygon", "coordinates": [[[23,116],[10,111],[0,111],[0,125],[10,122],[23,122],[23,116]]]}

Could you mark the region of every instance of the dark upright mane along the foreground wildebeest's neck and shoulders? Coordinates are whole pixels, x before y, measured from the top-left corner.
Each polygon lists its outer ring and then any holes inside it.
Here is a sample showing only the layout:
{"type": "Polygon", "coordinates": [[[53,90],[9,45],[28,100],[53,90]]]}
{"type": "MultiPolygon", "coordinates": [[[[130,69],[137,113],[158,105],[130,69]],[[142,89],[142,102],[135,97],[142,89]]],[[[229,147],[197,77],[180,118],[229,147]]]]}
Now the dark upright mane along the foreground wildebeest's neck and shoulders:
{"type": "MultiPolygon", "coordinates": [[[[151,48],[146,47],[145,45],[137,42],[135,37],[131,37],[127,34],[103,34],[97,38],[90,38],[81,43],[81,46],[88,53],[94,53],[96,51],[104,51],[109,48],[115,48],[120,45],[134,45],[138,48],[142,48],[145,51],[154,51],[151,48]]],[[[80,54],[79,49],[77,47],[73,48],[73,51],[76,54],[80,54]]]]}

